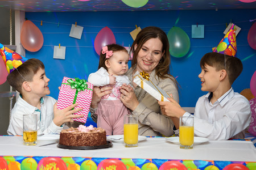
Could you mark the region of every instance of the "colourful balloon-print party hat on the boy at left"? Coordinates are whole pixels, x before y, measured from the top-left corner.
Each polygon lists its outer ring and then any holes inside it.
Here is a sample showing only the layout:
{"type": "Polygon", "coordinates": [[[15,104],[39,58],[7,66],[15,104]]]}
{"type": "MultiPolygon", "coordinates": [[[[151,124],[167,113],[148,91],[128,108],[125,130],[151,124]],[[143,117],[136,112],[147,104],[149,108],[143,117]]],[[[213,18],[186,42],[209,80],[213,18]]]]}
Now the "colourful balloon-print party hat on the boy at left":
{"type": "Polygon", "coordinates": [[[0,43],[0,56],[3,58],[8,74],[15,70],[18,66],[27,61],[26,57],[20,56],[20,54],[10,50],[6,46],[0,43]]]}

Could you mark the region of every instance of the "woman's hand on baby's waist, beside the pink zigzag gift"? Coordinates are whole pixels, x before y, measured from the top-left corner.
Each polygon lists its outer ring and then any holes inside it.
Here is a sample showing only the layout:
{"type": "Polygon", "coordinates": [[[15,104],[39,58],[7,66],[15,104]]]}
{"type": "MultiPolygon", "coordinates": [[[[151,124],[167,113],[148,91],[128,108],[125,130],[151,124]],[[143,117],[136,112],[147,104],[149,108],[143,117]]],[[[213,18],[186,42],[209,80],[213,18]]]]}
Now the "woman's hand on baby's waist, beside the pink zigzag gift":
{"type": "Polygon", "coordinates": [[[90,103],[90,107],[97,108],[98,103],[101,101],[101,97],[105,95],[109,95],[112,93],[113,87],[93,87],[93,96],[92,96],[92,103],[90,103]]]}

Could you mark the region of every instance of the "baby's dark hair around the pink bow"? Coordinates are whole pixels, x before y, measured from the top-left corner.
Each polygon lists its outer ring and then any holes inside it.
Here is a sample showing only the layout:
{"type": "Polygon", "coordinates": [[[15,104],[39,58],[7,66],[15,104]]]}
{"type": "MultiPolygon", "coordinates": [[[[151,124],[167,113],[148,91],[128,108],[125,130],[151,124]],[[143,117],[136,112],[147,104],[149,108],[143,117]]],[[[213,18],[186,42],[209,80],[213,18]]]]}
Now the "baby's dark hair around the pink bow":
{"type": "MultiPolygon", "coordinates": [[[[108,50],[109,51],[112,50],[113,53],[119,52],[119,51],[127,52],[127,50],[123,46],[118,45],[118,44],[110,44],[107,46],[108,46],[108,50]]],[[[128,54],[128,52],[127,52],[127,54],[128,54]]],[[[108,67],[106,67],[106,65],[105,65],[105,61],[107,59],[108,58],[106,58],[106,54],[102,54],[102,50],[101,50],[100,61],[98,62],[98,69],[100,69],[101,67],[104,67],[104,69],[108,70],[108,67]]]]}

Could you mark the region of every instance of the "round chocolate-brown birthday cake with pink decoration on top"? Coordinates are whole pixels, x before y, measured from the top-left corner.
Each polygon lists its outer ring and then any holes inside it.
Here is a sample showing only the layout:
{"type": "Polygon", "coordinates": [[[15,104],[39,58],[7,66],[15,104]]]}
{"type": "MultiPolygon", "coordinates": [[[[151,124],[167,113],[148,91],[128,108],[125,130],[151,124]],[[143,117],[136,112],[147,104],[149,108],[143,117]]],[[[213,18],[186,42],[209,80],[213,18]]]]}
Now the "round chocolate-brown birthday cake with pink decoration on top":
{"type": "Polygon", "coordinates": [[[106,131],[79,125],[79,128],[63,129],[60,133],[60,145],[65,146],[100,146],[106,145],[106,131]]]}

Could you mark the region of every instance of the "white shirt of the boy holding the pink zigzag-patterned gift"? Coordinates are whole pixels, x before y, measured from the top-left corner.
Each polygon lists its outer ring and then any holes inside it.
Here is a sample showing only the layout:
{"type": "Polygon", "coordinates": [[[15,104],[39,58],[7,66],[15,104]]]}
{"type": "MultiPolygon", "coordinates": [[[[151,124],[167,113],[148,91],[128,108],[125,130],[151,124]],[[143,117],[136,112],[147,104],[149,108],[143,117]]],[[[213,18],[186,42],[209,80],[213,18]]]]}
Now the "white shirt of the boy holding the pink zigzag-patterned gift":
{"type": "Polygon", "coordinates": [[[56,100],[50,96],[41,98],[41,111],[28,104],[19,95],[14,108],[11,110],[11,118],[7,133],[9,135],[23,135],[23,114],[38,115],[38,134],[59,134],[63,127],[57,126],[53,122],[53,105],[56,100]]]}

